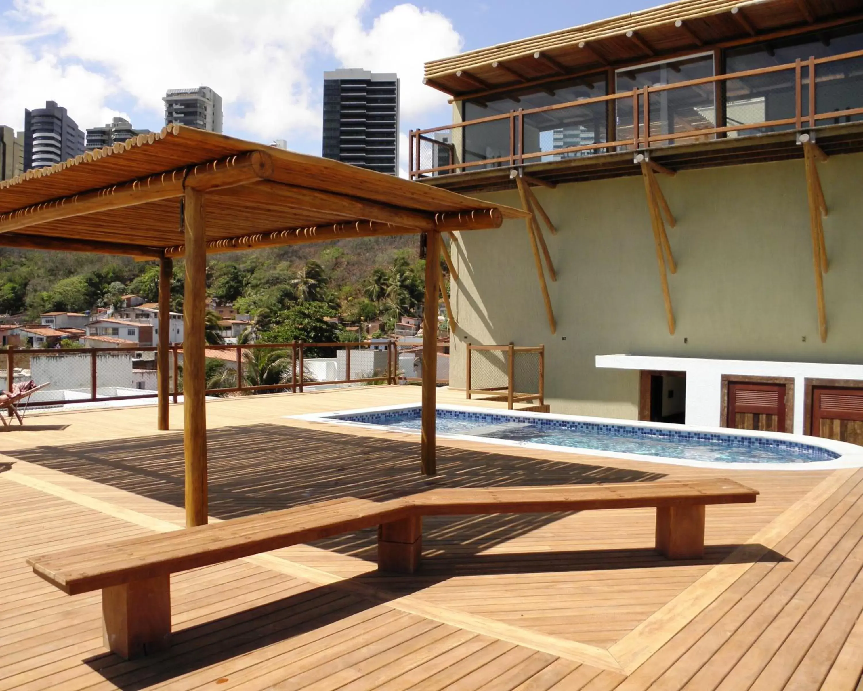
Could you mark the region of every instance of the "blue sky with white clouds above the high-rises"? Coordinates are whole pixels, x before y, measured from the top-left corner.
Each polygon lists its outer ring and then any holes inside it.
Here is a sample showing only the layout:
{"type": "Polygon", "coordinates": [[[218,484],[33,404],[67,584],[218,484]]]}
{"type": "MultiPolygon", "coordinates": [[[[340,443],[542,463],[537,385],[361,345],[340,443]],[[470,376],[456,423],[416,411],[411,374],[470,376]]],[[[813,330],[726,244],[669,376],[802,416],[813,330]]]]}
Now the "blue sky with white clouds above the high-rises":
{"type": "Polygon", "coordinates": [[[646,9],[658,0],[0,0],[0,124],[53,100],[81,129],[164,125],[167,89],[210,86],[224,133],[320,154],[323,72],[400,77],[406,132],[450,122],[423,63],[646,9]],[[529,8],[529,9],[528,9],[529,8]]]}

